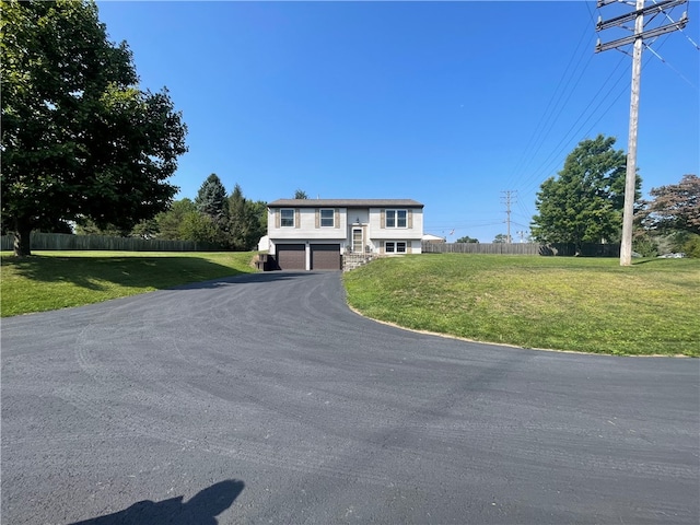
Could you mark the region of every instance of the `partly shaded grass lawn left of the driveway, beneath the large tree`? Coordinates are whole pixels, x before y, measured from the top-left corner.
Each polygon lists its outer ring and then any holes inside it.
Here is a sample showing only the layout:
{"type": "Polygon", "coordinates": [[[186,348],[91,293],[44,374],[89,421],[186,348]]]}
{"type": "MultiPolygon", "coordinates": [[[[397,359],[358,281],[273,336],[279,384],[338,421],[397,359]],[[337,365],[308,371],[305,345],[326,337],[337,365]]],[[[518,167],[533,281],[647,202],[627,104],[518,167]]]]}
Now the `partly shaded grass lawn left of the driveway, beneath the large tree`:
{"type": "Polygon", "coordinates": [[[0,253],[3,317],[98,303],[188,282],[253,272],[255,253],[0,253]]]}

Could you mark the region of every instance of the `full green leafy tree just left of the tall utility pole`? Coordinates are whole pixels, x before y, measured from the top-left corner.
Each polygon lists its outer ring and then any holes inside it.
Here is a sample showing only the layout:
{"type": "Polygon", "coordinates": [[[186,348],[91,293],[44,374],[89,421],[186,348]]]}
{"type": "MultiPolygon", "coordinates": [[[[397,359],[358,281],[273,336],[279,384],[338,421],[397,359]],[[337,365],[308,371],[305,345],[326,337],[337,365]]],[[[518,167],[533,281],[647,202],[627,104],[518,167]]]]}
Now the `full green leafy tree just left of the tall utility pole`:
{"type": "MultiPolygon", "coordinates": [[[[558,177],[537,194],[532,232],[538,242],[599,243],[619,237],[625,206],[627,160],[614,137],[586,139],[567,156],[558,177]]],[[[641,179],[637,177],[637,189],[641,179]]],[[[637,196],[639,198],[639,195],[637,196]]]]}

